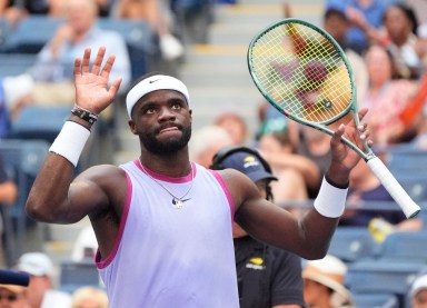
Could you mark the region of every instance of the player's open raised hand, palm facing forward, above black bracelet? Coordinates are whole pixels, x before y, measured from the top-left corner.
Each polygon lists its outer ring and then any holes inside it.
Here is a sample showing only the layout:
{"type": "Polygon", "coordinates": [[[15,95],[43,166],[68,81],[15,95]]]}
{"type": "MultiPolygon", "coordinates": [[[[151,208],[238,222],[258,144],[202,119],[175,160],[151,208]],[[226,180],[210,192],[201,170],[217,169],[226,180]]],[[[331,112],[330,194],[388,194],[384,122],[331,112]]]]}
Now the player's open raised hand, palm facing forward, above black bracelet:
{"type": "Polygon", "coordinates": [[[90,53],[91,49],[87,48],[83,59],[77,58],[75,61],[76,105],[99,115],[115,100],[121,78],[116,79],[108,89],[108,79],[116,57],[109,56],[106,64],[101,67],[106,54],[106,48],[101,47],[90,69],[90,53]]]}

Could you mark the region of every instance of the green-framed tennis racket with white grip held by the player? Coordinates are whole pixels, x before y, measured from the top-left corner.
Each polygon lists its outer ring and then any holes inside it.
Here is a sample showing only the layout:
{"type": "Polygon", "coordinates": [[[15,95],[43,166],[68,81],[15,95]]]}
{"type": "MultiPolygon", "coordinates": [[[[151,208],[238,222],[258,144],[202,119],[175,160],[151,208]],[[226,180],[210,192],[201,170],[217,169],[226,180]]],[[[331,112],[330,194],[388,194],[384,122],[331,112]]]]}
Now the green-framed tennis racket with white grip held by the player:
{"type": "MultiPolygon", "coordinates": [[[[359,123],[352,69],[339,44],[325,30],[307,21],[288,18],[278,21],[250,42],[250,76],[262,96],[277,110],[298,123],[328,135],[328,126],[352,113],[359,123]]],[[[368,163],[407,218],[420,208],[365,142],[359,149],[344,142],[368,163]]]]}

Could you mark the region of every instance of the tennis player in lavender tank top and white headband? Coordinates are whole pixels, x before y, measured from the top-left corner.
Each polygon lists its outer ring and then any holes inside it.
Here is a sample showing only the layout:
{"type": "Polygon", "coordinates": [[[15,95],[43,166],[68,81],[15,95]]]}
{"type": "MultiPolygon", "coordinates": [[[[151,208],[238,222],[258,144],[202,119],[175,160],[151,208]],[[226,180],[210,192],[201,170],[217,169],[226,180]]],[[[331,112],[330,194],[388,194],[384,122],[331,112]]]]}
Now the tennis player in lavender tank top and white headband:
{"type": "MultiPolygon", "coordinates": [[[[261,241],[306,259],[322,258],[344,211],[348,177],[360,157],[364,126],[341,125],[331,138],[332,161],[315,206],[298,220],[259,192],[246,175],[191,162],[192,111],[178,79],[142,78],[127,95],[131,133],[141,152],[121,166],[73,171],[98,115],[116,98],[109,83],[115,56],[91,50],[75,61],[77,101],[53,141],[27,200],[30,217],[73,223],[89,217],[98,240],[96,264],[110,307],[239,307],[232,221],[261,241]],[[361,132],[361,133],[360,133],[361,132]]],[[[367,110],[360,111],[360,118],[367,110]]],[[[209,142],[209,140],[206,140],[209,142]]]]}

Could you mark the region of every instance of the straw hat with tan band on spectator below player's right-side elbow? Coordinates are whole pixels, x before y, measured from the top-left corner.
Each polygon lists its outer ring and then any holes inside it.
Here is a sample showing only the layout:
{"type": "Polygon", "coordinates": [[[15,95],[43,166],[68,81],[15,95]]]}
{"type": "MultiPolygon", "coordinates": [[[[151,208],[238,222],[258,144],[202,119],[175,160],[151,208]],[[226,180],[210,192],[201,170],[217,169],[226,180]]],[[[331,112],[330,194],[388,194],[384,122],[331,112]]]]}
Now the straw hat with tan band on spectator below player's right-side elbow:
{"type": "Polygon", "coordinates": [[[321,284],[334,290],[342,302],[351,302],[351,294],[344,286],[347,266],[337,257],[326,256],[320,260],[307,261],[302,278],[321,284]]]}

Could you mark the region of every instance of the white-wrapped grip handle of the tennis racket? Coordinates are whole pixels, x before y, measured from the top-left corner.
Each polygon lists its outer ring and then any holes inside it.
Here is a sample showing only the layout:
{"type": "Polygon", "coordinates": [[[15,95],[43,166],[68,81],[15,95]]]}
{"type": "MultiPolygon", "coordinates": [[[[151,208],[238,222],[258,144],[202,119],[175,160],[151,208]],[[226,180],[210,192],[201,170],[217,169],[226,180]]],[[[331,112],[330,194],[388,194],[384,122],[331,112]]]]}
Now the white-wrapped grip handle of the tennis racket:
{"type": "Polygon", "coordinates": [[[399,205],[406,218],[415,217],[420,211],[420,207],[414,202],[384,162],[378,157],[374,157],[369,159],[367,163],[390,196],[399,205]]]}

